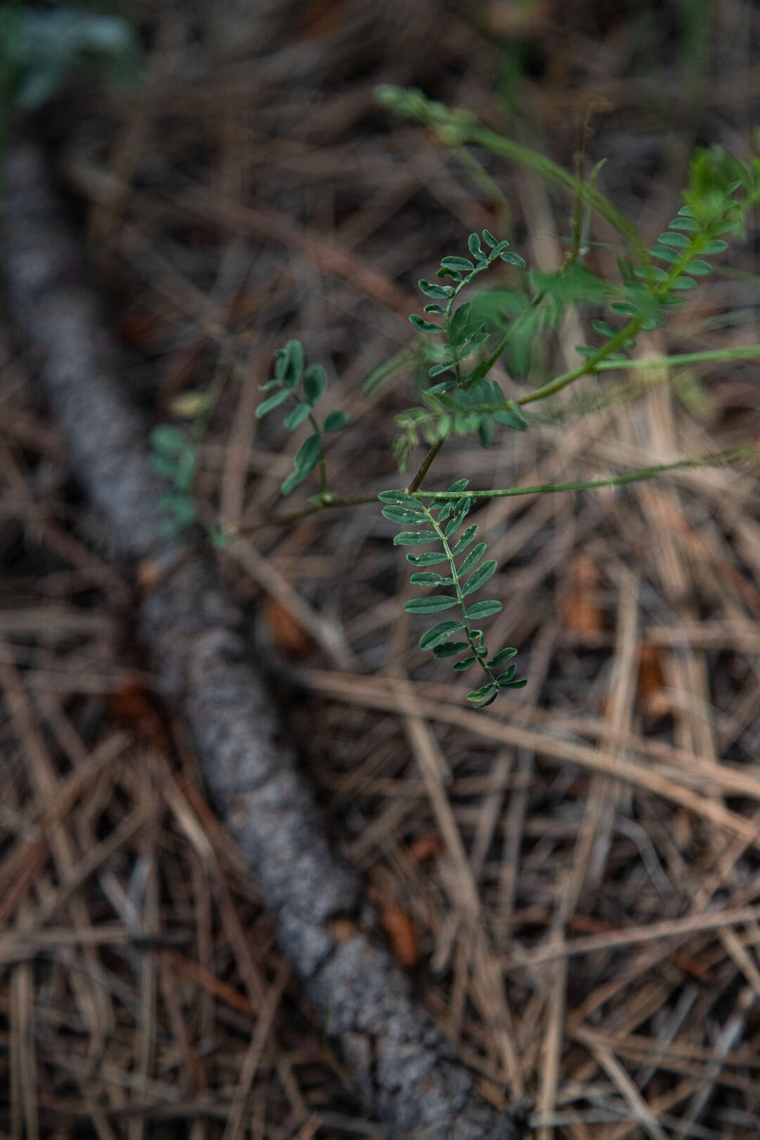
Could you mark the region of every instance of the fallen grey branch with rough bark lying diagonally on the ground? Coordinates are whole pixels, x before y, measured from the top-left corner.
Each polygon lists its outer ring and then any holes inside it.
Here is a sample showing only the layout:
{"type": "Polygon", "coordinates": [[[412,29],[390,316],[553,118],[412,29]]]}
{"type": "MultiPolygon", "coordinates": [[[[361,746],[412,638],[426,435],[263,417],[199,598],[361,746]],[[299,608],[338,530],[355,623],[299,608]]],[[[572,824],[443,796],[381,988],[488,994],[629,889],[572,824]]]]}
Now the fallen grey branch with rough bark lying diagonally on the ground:
{"type": "MultiPolygon", "coordinates": [[[[177,551],[157,537],[161,488],[147,425],[115,378],[96,299],[33,146],[10,153],[6,185],[9,308],[68,437],[75,473],[120,557],[172,567],[177,551]]],[[[275,710],[239,633],[242,614],[213,561],[178,561],[145,597],[139,621],[164,693],[190,724],[210,793],[259,878],[283,951],[309,996],[329,1010],[329,1031],[368,1108],[393,1140],[517,1140],[514,1115],[498,1114],[480,1094],[377,939],[359,877],[330,852],[295,757],[278,742],[275,710]]]]}

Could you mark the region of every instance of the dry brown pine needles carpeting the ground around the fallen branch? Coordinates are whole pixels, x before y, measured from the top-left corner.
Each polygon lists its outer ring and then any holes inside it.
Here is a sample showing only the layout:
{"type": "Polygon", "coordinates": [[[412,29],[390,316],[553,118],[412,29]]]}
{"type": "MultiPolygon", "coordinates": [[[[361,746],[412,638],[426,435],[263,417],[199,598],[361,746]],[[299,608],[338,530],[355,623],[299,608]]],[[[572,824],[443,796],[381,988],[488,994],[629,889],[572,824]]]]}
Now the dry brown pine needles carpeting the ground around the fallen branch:
{"type": "MultiPolygon", "coordinates": [[[[142,92],[96,114],[74,85],[49,116],[123,375],[157,422],[179,397],[212,394],[199,510],[250,535],[220,554],[228,586],[251,603],[336,844],[489,1099],[532,1097],[541,1140],[757,1137],[752,472],[685,470],[474,515],[500,567],[493,643],[517,645],[530,678],[477,714],[466,682],[416,649],[424,625],[403,612],[406,563],[376,508],[259,529],[301,438],[254,409],[272,351],[300,337],[327,367],[330,407],[352,413],[332,484],[399,486],[408,376],[373,400],[361,381],[412,342],[416,278],[495,213],[431,137],[376,109],[377,82],[416,83],[529,141],[539,124],[570,164],[567,124],[595,106],[603,188],[653,237],[695,140],[741,149],[758,14],[721,6],[695,64],[676,6],[613,18],[537,5],[515,24],[495,2],[485,33],[434,2],[258,3],[236,23],[244,7],[205,23],[202,6],[191,18],[189,5],[136,3],[142,92]],[[516,62],[515,116],[493,90],[516,62]]],[[[489,166],[513,247],[559,264],[567,201],[489,166]]],[[[751,244],[730,263],[647,351],[757,339],[751,244]]],[[[586,339],[567,320],[541,348],[547,368],[571,367],[586,339]]],[[[655,376],[629,407],[489,451],[453,441],[435,486],[600,478],[746,440],[753,367],[700,366],[696,402],[655,376]]],[[[132,588],[9,350],[0,399],[3,1132],[381,1135],[277,952],[183,726],[152,695],[132,588]]]]}

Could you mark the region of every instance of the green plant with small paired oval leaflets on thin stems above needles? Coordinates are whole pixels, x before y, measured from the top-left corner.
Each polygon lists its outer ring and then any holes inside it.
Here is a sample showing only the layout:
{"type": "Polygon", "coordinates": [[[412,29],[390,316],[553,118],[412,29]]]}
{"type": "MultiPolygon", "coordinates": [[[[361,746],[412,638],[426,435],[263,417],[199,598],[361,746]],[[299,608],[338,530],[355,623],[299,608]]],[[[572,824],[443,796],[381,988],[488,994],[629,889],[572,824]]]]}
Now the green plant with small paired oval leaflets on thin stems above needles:
{"type": "MultiPolygon", "coordinates": [[[[468,256],[443,258],[436,279],[423,278],[418,283],[426,303],[423,315],[412,314],[409,320],[420,334],[419,343],[376,368],[363,386],[365,394],[373,396],[410,365],[417,373],[422,402],[398,416],[400,434],[394,443],[394,454],[401,471],[406,470],[420,439],[427,443],[427,454],[403,489],[383,490],[377,498],[383,504],[383,515],[403,528],[397,534],[394,545],[431,547],[419,553],[407,553],[415,568],[411,584],[427,587],[433,593],[408,601],[406,610],[410,613],[451,611],[453,614],[427,629],[419,640],[420,648],[432,651],[439,659],[456,658],[452,661],[456,671],[480,670],[484,683],[469,692],[468,700],[476,708],[484,708],[496,700],[501,690],[520,687],[525,681],[515,677],[515,662],[500,669],[517,650],[507,646],[491,654],[480,628],[483,618],[501,610],[501,602],[496,598],[471,601],[472,595],[485,586],[497,570],[496,561],[484,560],[487,544],[474,542],[477,526],[465,526],[467,514],[477,499],[621,486],[652,479],[677,467],[730,463],[754,457],[757,453],[751,446],[738,447],[607,479],[541,487],[476,490],[469,488],[467,480],[460,479],[446,490],[423,489],[436,455],[452,434],[475,433],[481,445],[489,447],[498,431],[526,431],[531,423],[585,414],[620,399],[634,399],[647,389],[646,384],[629,381],[602,389],[595,396],[565,402],[562,407],[551,405],[546,414],[524,410],[528,405],[549,400],[582,376],[643,366],[660,368],[669,374],[678,366],[697,360],[760,356],[760,345],[755,344],[656,360],[629,358],[639,334],[667,324],[696,288],[700,278],[712,271],[713,266],[708,259],[728,249],[725,237],[741,231],[745,214],[760,201],[760,158],[752,157],[744,165],[718,148],[696,152],[683,204],[654,245],[647,247],[632,223],[596,189],[598,168],[588,181],[583,181],[580,174],[569,174],[542,155],[484,130],[468,113],[449,111],[441,104],[431,103],[419,91],[386,87],[378,91],[378,99],[397,114],[433,130],[471,173],[477,174],[480,166],[479,160],[467,149],[467,145],[474,142],[521,162],[573,195],[572,236],[569,253],[559,269],[547,272],[528,268],[524,260],[509,249],[506,239],[493,236],[489,230],[483,230],[482,235],[471,234],[467,239],[468,256]],[[623,241],[618,256],[620,276],[616,280],[603,279],[583,263],[588,252],[588,222],[593,213],[598,213],[613,226],[623,241]],[[508,278],[474,293],[472,287],[476,282],[480,284],[481,274],[496,262],[509,267],[506,270],[508,278]],[[465,291],[472,293],[466,300],[463,299],[465,291]],[[500,383],[490,375],[497,361],[505,361],[513,380],[526,382],[536,370],[533,357],[537,343],[558,327],[571,307],[583,312],[597,342],[577,347],[581,359],[575,367],[557,376],[539,377],[538,384],[523,394],[507,398],[500,383]],[[443,572],[428,569],[434,565],[440,565],[443,572]]],[[[483,178],[479,181],[481,186],[484,184],[483,178]]],[[[343,412],[333,412],[324,423],[317,420],[314,406],[326,384],[326,374],[318,365],[304,369],[299,341],[289,341],[277,353],[275,376],[263,385],[263,391],[269,394],[260,404],[256,415],[264,416],[289,401],[285,426],[295,431],[309,423],[311,433],[300,448],[295,469],[285,479],[281,491],[289,495],[314,469],[319,470],[320,487],[303,508],[272,516],[261,526],[287,523],[329,507],[376,502],[375,496],[343,498],[328,488],[325,437],[344,427],[349,417],[343,412]]],[[[180,454],[179,450],[175,453],[177,456],[180,454]]],[[[165,448],[162,462],[167,472],[174,463],[174,458],[170,457],[166,465],[165,448]]],[[[186,462],[189,464],[189,459],[186,462]]],[[[174,495],[185,494],[187,484],[180,487],[175,469],[172,470],[174,474],[170,478],[174,480],[174,495]]],[[[185,516],[177,507],[174,511],[178,519],[185,516]]]]}

